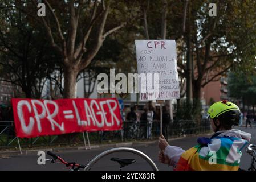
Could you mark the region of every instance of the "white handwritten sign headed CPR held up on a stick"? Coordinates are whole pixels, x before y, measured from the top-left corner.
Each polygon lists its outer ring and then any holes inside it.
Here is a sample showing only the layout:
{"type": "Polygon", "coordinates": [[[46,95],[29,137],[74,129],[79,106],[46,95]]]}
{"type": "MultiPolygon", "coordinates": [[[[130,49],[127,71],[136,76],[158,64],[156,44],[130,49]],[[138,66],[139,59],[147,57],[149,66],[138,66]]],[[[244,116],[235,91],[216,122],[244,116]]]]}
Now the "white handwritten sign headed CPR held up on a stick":
{"type": "Polygon", "coordinates": [[[140,92],[140,100],[180,98],[175,40],[135,40],[138,73],[158,74],[156,92],[140,92]]]}

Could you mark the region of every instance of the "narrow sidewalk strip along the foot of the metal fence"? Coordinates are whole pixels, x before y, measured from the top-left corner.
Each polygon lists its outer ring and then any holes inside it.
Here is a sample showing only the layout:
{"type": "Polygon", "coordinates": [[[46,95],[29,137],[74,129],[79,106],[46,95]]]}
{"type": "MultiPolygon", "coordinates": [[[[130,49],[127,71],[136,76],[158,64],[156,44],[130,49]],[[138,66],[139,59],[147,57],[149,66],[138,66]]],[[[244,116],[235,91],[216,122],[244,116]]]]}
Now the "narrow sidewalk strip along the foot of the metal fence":
{"type": "MultiPolygon", "coordinates": [[[[168,142],[172,142],[173,140],[178,140],[186,137],[196,137],[196,136],[209,136],[212,135],[212,133],[205,133],[205,134],[192,134],[192,135],[185,135],[183,137],[176,137],[169,139],[168,142]]],[[[8,150],[8,151],[0,151],[1,155],[24,155],[24,154],[33,154],[37,153],[38,151],[70,151],[70,150],[93,150],[96,148],[109,148],[109,147],[131,147],[131,146],[148,146],[150,144],[157,144],[158,140],[151,140],[151,141],[134,141],[134,142],[123,142],[123,143],[113,143],[113,144],[96,144],[91,145],[91,148],[87,148],[84,145],[80,146],[65,146],[65,147],[54,147],[51,146],[49,148],[34,148],[30,150],[23,150],[22,146],[22,154],[19,151],[19,148],[17,150],[8,150]]]]}

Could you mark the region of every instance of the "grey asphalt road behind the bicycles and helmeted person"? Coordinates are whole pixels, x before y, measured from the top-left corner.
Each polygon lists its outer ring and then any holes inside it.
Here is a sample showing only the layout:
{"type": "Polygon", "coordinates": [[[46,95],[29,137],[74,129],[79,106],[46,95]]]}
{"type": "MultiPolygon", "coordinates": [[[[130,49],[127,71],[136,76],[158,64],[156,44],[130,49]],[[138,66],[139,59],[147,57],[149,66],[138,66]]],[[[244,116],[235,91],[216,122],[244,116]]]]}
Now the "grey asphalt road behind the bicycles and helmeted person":
{"type": "MultiPolygon", "coordinates": [[[[252,134],[252,140],[250,143],[256,143],[256,129],[245,129],[244,127],[238,127],[243,131],[247,131],[252,134]]],[[[197,137],[187,137],[182,139],[173,140],[170,144],[174,146],[180,146],[185,150],[194,146],[196,144],[197,137]]],[[[165,164],[161,164],[157,161],[157,152],[159,149],[156,144],[150,144],[148,146],[132,146],[132,148],[136,148],[141,152],[144,152],[155,162],[156,166],[160,170],[171,170],[171,167],[168,167],[165,164]]],[[[87,164],[90,162],[94,156],[100,154],[101,152],[108,150],[109,148],[98,148],[92,150],[73,150],[73,151],[59,151],[56,154],[60,155],[63,159],[72,162],[75,161],[80,164],[87,164]]],[[[250,165],[250,156],[246,154],[245,149],[243,149],[243,155],[241,159],[241,168],[248,168],[250,165]]],[[[115,154],[111,154],[105,156],[97,162],[92,170],[110,170],[116,171],[119,169],[119,164],[116,162],[112,162],[109,160],[111,157],[117,158],[132,158],[136,159],[136,163],[131,164],[130,166],[124,167],[123,170],[151,170],[151,167],[144,159],[140,158],[135,154],[131,154],[129,152],[118,152],[115,154]]],[[[13,156],[4,156],[1,158],[0,156],[0,170],[67,170],[63,164],[58,163],[46,163],[46,165],[38,165],[37,164],[38,156],[36,154],[27,154],[27,155],[13,155],[13,156]]]]}

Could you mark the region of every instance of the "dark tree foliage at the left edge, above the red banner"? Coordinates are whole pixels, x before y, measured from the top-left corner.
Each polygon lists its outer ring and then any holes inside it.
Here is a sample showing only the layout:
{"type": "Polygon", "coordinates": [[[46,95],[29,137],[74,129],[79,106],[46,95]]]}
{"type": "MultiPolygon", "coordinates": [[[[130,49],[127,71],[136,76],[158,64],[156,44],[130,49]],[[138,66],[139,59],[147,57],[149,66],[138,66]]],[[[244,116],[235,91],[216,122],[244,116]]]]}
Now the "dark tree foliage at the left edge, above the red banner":
{"type": "MultiPolygon", "coordinates": [[[[8,7],[9,1],[2,2],[8,7]]],[[[58,61],[45,34],[28,23],[27,15],[13,9],[0,9],[1,80],[18,85],[27,98],[40,98],[47,77],[58,61]]]]}

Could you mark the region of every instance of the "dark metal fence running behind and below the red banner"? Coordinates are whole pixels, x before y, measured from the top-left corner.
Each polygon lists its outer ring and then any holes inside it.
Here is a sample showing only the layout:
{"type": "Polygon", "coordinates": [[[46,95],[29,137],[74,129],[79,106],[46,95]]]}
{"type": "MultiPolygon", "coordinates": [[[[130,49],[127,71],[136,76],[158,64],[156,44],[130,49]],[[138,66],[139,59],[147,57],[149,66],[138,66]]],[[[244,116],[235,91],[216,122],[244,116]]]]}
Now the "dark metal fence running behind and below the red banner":
{"type": "MultiPolygon", "coordinates": [[[[17,138],[15,136],[13,121],[0,121],[0,148],[32,146],[55,146],[83,144],[84,133],[52,135],[35,138],[17,138]]],[[[210,130],[210,122],[202,120],[200,125],[191,120],[179,120],[169,123],[169,137],[180,137],[189,134],[201,134],[210,130]]],[[[154,140],[160,134],[160,121],[133,122],[124,121],[122,130],[119,131],[97,131],[86,133],[92,144],[127,142],[134,140],[154,140]]],[[[89,142],[89,140],[88,140],[89,142]]]]}

